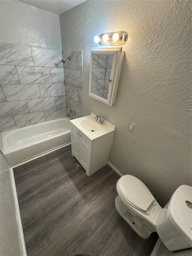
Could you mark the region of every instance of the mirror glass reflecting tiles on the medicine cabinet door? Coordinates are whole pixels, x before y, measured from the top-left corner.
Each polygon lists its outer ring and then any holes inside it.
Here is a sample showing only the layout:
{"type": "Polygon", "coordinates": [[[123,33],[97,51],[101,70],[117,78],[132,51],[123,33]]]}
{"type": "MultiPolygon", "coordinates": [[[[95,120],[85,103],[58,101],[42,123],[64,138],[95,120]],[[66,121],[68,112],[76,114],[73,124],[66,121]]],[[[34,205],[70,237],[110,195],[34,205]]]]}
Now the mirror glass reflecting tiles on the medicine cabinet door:
{"type": "Polygon", "coordinates": [[[113,55],[93,54],[91,93],[105,100],[108,97],[113,55]]]}

